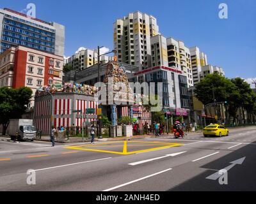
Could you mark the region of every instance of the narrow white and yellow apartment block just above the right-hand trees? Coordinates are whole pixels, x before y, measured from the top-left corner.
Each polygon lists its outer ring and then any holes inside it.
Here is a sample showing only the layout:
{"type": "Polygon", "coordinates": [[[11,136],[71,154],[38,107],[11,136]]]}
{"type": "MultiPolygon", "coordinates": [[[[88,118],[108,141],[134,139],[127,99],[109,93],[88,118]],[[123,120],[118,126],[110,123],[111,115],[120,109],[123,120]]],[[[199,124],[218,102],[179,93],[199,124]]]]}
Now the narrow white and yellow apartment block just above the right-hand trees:
{"type": "Polygon", "coordinates": [[[208,65],[207,55],[204,52],[200,52],[198,47],[191,47],[189,50],[191,54],[193,82],[196,85],[200,82],[202,67],[208,65]]]}

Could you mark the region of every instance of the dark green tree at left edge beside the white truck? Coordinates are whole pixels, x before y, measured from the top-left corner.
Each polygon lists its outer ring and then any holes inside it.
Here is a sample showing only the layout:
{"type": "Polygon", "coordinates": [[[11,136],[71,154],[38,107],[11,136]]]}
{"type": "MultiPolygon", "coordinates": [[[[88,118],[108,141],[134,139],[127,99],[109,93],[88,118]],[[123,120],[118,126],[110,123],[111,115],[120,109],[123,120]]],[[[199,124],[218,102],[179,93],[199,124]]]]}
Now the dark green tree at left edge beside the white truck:
{"type": "Polygon", "coordinates": [[[10,119],[20,119],[26,111],[32,90],[28,87],[12,89],[8,87],[0,88],[0,124],[3,126],[3,135],[6,134],[6,129],[10,119]]]}

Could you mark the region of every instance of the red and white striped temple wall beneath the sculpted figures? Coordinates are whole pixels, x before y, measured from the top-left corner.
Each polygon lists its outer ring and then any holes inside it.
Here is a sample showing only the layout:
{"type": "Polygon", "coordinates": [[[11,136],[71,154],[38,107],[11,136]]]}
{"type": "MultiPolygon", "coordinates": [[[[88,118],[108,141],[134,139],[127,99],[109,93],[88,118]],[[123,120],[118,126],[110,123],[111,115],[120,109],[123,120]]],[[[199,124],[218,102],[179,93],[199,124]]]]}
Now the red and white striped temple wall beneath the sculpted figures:
{"type": "MultiPolygon", "coordinates": [[[[97,120],[98,102],[93,101],[93,96],[84,96],[75,93],[57,93],[53,94],[54,105],[54,127],[58,128],[83,126],[83,122],[92,122],[97,120]],[[95,114],[86,114],[86,108],[95,108],[95,114]],[[82,110],[81,113],[73,113],[72,110],[82,110]],[[87,118],[86,118],[87,117],[87,118]]],[[[34,124],[36,129],[42,131],[44,135],[50,135],[52,126],[52,100],[51,96],[38,96],[35,98],[34,124]]],[[[142,108],[142,113],[134,113],[134,117],[141,117],[143,124],[147,122],[151,124],[151,114],[145,108],[142,108]]],[[[122,116],[129,116],[130,110],[128,106],[121,108],[122,116]]]]}

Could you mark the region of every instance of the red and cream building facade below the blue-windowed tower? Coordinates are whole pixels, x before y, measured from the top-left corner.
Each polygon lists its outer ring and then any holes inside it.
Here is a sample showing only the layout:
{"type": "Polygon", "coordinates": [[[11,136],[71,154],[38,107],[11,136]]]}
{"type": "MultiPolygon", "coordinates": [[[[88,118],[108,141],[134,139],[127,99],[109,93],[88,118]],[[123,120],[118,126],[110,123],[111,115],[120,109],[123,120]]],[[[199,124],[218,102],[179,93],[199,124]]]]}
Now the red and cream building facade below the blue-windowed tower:
{"type": "MultiPolygon", "coordinates": [[[[27,47],[11,47],[0,54],[0,86],[29,87],[35,96],[43,85],[62,84],[63,57],[27,47]]],[[[28,108],[33,106],[34,98],[28,108]]]]}

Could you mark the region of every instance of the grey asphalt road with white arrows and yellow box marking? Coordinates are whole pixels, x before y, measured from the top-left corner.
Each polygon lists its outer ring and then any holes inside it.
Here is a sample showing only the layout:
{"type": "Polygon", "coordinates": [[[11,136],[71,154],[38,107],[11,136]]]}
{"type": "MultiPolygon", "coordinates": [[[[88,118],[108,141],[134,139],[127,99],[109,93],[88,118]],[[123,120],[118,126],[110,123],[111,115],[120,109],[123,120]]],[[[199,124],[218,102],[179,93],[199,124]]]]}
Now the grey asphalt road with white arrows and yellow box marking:
{"type": "Polygon", "coordinates": [[[221,138],[191,133],[56,147],[0,141],[0,191],[255,191],[255,161],[255,127],[221,138]],[[35,185],[27,184],[28,170],[35,185]]]}

